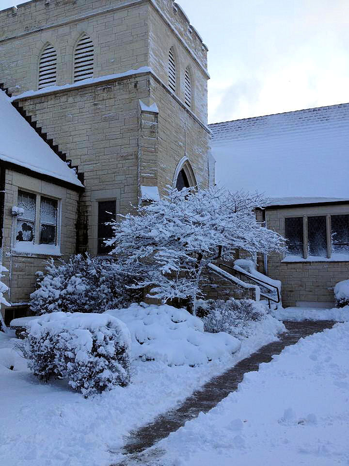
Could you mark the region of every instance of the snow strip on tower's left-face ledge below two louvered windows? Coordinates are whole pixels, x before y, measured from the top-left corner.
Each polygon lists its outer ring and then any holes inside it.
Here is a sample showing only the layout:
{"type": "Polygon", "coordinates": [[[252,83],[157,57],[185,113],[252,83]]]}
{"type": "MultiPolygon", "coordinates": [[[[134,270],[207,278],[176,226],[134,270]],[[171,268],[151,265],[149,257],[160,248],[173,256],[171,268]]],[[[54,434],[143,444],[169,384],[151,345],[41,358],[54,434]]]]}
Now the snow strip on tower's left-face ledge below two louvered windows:
{"type": "Polygon", "coordinates": [[[153,73],[150,67],[140,67],[138,69],[129,69],[128,71],[125,71],[124,73],[108,74],[106,76],[101,76],[99,78],[87,78],[82,81],[78,81],[78,83],[72,83],[72,84],[68,83],[68,84],[63,84],[62,86],[48,86],[48,87],[44,87],[43,89],[39,89],[38,91],[30,90],[30,91],[23,92],[22,94],[19,94],[18,96],[12,97],[10,101],[13,102],[14,100],[25,99],[26,97],[42,96],[44,94],[49,94],[55,91],[64,91],[66,89],[74,89],[74,88],[81,87],[81,86],[88,85],[88,84],[103,83],[105,81],[112,81],[117,78],[124,78],[127,76],[132,76],[134,74],[142,74],[142,73],[148,73],[148,72],[153,73]]]}

